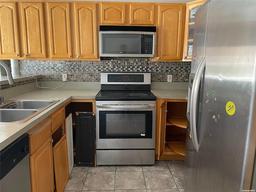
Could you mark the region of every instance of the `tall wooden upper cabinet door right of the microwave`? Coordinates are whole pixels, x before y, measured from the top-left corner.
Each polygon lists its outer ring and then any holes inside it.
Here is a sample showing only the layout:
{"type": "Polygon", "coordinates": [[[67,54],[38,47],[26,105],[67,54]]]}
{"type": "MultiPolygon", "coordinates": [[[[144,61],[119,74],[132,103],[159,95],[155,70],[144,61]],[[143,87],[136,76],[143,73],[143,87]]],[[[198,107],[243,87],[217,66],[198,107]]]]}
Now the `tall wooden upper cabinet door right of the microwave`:
{"type": "Polygon", "coordinates": [[[157,60],[182,60],[184,4],[158,6],[157,60]]]}

